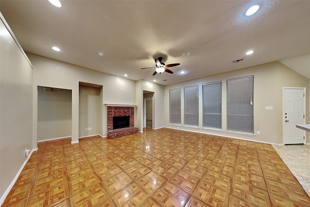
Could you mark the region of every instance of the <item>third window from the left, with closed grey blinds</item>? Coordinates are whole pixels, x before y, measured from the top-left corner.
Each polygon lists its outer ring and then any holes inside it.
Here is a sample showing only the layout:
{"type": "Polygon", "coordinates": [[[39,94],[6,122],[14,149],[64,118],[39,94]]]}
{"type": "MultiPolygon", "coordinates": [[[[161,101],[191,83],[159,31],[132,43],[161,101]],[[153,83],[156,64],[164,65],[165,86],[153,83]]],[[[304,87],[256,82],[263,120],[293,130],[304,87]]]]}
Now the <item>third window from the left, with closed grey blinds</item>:
{"type": "Polygon", "coordinates": [[[203,123],[205,128],[222,129],[222,83],[202,85],[203,123]]]}

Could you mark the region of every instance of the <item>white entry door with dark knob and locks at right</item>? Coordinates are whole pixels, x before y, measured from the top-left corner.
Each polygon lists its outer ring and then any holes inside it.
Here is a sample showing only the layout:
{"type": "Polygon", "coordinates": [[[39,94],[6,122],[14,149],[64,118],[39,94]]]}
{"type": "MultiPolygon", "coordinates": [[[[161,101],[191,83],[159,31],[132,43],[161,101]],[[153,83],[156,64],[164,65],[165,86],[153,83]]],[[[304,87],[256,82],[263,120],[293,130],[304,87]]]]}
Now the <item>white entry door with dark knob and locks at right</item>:
{"type": "Polygon", "coordinates": [[[305,131],[296,124],[305,124],[305,90],[284,89],[284,144],[304,143],[305,131]]]}

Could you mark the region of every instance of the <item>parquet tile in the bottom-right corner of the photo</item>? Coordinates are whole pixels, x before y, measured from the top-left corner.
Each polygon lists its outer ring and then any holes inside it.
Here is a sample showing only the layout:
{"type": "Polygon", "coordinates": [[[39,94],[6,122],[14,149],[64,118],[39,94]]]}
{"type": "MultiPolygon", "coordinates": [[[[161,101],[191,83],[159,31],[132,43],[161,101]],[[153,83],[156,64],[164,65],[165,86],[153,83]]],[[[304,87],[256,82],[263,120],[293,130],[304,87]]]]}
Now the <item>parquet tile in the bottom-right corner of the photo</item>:
{"type": "Polygon", "coordinates": [[[291,200],[300,205],[309,205],[310,198],[301,188],[285,185],[273,180],[265,179],[269,193],[291,200]]]}

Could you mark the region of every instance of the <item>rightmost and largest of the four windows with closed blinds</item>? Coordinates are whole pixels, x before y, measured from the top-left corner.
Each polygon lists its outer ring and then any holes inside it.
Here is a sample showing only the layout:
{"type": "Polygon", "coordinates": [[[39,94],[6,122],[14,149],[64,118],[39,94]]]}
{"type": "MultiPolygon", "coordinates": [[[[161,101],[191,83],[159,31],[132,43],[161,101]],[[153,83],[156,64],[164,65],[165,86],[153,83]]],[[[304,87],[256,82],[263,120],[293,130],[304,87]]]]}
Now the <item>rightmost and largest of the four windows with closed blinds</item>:
{"type": "Polygon", "coordinates": [[[227,80],[227,130],[254,134],[254,77],[227,80]]]}

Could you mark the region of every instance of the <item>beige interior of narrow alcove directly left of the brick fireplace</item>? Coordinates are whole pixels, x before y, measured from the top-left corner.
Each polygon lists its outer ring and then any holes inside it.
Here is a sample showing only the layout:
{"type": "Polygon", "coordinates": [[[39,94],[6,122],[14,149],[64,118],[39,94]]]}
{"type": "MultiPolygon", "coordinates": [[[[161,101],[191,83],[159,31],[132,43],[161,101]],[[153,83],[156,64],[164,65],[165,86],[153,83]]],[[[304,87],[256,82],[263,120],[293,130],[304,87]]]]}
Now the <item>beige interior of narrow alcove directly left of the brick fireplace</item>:
{"type": "Polygon", "coordinates": [[[79,86],[79,137],[100,133],[100,91],[101,88],[79,86]]]}

